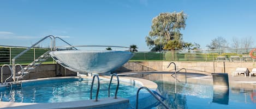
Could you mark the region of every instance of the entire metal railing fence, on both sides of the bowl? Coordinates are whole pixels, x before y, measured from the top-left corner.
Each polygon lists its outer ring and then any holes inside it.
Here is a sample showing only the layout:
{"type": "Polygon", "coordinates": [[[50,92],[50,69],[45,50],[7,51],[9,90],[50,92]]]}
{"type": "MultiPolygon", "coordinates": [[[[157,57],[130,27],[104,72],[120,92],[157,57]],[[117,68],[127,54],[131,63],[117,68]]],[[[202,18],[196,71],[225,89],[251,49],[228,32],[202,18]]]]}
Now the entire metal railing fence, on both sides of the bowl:
{"type": "MultiPolygon", "coordinates": [[[[0,65],[10,64],[11,59],[27,47],[0,46],[0,65]]],[[[249,56],[248,49],[223,49],[223,50],[175,50],[163,52],[136,52],[130,61],[254,61],[249,56]]],[[[16,63],[28,64],[50,48],[32,48],[23,54],[16,63]]],[[[254,53],[255,55],[255,53],[254,53]]],[[[47,63],[53,63],[50,58],[47,63]]]]}

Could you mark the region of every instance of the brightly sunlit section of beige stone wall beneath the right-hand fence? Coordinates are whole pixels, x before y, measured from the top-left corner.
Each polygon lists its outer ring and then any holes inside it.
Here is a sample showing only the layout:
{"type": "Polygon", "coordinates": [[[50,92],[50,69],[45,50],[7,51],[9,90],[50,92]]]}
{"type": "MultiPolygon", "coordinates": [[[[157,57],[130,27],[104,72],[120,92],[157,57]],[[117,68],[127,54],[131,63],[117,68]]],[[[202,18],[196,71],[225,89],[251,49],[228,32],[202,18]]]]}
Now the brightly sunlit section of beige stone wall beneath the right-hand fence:
{"type": "MultiPolygon", "coordinates": [[[[169,65],[170,62],[167,61],[145,61],[141,64],[159,71],[170,71],[174,70],[174,65],[169,65]]],[[[224,73],[224,63],[223,62],[175,62],[176,68],[186,68],[187,72],[200,73],[224,73]]],[[[251,71],[256,68],[256,62],[225,62],[225,72],[231,73],[238,67],[248,68],[251,71]]]]}

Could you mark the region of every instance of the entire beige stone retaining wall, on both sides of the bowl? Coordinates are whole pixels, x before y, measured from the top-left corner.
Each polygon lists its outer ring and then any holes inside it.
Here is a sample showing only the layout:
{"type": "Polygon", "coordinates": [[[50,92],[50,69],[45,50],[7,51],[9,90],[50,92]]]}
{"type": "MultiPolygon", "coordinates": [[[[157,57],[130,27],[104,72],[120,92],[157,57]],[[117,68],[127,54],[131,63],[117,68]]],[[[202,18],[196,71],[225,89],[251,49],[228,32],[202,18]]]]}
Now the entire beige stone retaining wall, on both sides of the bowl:
{"type": "MultiPolygon", "coordinates": [[[[130,72],[130,71],[174,71],[174,65],[169,68],[168,61],[144,61],[144,62],[127,62],[122,67],[116,69],[113,73],[130,72]]],[[[193,73],[223,73],[223,62],[175,62],[176,68],[186,68],[187,72],[193,73]]],[[[25,67],[25,66],[23,66],[25,67]]],[[[225,62],[225,72],[231,74],[237,67],[256,68],[256,62],[225,62]]],[[[10,75],[8,67],[4,67],[4,79],[10,75]]],[[[184,72],[182,70],[181,72],[184,72]]],[[[25,79],[47,78],[55,76],[74,76],[76,72],[72,72],[60,65],[50,64],[41,65],[31,73],[25,76],[25,79]]],[[[1,75],[0,75],[1,76],[1,75]]]]}

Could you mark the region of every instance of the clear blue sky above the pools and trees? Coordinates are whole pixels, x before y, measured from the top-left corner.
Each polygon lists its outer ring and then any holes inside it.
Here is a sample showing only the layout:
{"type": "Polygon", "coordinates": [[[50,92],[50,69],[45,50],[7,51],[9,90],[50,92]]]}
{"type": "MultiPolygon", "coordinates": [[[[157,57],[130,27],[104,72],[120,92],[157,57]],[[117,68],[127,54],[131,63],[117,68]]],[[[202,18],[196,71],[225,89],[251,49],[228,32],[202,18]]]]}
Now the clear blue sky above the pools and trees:
{"type": "MultiPolygon", "coordinates": [[[[31,46],[47,35],[74,45],[127,46],[148,51],[145,37],[160,12],[187,14],[185,42],[206,49],[212,39],[252,37],[256,43],[254,0],[0,0],[0,45],[31,46]]],[[[253,44],[255,47],[256,44],[253,44]]]]}

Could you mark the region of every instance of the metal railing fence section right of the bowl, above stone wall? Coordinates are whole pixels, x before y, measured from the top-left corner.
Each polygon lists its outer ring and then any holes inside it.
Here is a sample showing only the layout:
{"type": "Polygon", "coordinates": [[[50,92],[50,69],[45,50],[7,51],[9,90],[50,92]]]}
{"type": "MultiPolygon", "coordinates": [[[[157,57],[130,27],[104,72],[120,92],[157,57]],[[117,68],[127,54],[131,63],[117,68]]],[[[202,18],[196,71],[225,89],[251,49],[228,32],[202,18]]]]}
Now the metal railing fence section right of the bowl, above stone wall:
{"type": "Polygon", "coordinates": [[[137,52],[131,61],[254,61],[249,56],[252,49],[137,52]]]}

